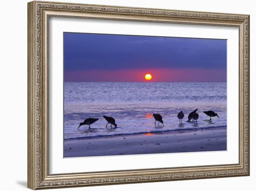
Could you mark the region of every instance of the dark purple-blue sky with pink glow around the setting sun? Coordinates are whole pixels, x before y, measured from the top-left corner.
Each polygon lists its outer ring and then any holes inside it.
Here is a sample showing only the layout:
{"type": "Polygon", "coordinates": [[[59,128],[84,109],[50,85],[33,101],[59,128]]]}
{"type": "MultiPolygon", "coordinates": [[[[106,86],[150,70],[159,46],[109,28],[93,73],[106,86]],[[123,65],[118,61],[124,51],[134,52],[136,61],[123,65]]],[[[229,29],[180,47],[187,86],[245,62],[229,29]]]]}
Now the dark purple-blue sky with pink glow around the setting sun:
{"type": "Polygon", "coordinates": [[[64,33],[64,81],[226,82],[227,40],[64,33]]]}

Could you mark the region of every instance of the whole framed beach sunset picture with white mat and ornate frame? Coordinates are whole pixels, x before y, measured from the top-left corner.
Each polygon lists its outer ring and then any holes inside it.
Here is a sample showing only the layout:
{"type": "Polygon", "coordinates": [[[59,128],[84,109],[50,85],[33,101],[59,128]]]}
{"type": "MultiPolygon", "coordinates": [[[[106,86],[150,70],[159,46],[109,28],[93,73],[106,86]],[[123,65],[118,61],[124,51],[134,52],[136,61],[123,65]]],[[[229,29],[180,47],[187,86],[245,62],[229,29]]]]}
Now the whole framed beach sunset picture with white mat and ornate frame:
{"type": "Polygon", "coordinates": [[[28,188],[249,176],[248,14],[27,13],[28,188]]]}

